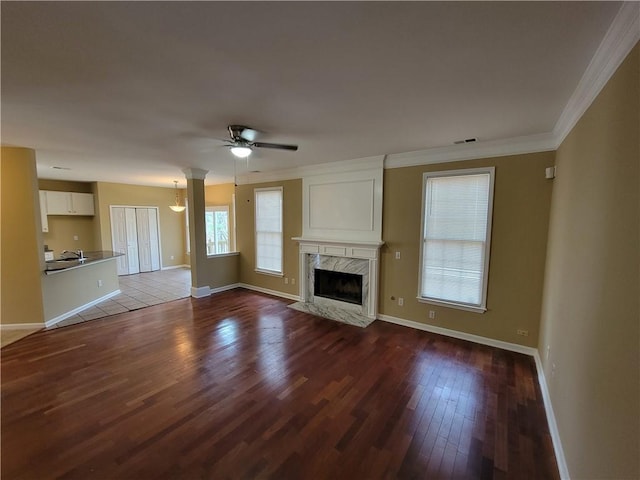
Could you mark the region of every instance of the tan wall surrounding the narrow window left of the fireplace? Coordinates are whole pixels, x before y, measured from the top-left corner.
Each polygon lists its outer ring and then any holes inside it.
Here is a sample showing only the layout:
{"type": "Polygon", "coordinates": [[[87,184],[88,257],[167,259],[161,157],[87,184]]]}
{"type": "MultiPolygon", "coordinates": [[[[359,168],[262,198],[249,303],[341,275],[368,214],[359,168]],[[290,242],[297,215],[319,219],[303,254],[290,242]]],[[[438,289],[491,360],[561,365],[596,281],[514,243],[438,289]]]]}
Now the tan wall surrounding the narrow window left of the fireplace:
{"type": "Polygon", "coordinates": [[[302,234],[302,180],[285,180],[236,188],[237,247],[240,252],[240,282],[260,288],[298,295],[298,242],[291,240],[302,234]],[[282,187],[284,276],[265,275],[255,271],[255,188],[282,187]],[[289,283],[285,284],[285,277],[289,283]],[[291,282],[295,279],[295,285],[291,282]]]}

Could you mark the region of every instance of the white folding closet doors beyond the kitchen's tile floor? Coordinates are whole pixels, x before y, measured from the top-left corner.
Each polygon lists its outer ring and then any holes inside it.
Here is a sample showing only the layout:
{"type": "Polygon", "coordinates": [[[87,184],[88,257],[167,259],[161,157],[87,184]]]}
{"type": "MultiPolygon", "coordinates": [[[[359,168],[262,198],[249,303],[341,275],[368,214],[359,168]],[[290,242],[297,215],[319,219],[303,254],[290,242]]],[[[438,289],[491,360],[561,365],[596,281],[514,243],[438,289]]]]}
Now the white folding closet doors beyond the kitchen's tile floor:
{"type": "Polygon", "coordinates": [[[118,275],[160,270],[159,231],[158,207],[111,206],[113,250],[124,253],[118,275]]]}

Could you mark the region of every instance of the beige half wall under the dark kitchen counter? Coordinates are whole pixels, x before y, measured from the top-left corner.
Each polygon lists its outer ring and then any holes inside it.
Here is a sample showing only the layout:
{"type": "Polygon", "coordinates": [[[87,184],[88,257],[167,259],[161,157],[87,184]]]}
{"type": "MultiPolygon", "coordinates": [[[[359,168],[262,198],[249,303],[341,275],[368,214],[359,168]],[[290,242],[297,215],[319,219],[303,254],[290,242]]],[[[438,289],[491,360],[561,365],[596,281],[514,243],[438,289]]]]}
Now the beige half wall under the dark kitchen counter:
{"type": "Polygon", "coordinates": [[[119,289],[116,260],[42,274],[44,319],[52,320],[119,289]],[[102,284],[98,286],[98,280],[102,284]]]}

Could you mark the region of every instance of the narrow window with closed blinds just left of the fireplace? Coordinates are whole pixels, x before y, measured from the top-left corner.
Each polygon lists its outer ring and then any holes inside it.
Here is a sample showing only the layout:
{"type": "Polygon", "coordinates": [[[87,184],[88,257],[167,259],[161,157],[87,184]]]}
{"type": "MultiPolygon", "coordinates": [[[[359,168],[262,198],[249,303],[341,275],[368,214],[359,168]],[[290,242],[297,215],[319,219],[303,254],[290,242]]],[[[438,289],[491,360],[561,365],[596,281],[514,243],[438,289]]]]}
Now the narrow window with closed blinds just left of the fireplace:
{"type": "Polygon", "coordinates": [[[257,188],[256,270],[282,274],[282,187],[257,188]]]}

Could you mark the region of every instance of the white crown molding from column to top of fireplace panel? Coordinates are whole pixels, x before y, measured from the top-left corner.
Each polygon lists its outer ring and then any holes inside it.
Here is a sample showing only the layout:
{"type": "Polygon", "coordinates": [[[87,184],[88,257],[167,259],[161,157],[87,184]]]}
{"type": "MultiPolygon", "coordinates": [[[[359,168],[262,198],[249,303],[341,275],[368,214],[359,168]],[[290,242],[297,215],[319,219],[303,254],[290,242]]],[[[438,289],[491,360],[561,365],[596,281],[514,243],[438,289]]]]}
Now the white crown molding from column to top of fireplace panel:
{"type": "Polygon", "coordinates": [[[317,165],[273,170],[271,172],[252,172],[245,175],[238,175],[236,183],[238,185],[246,185],[251,183],[278,182],[314,175],[348,173],[367,170],[370,168],[383,168],[384,159],[384,155],[377,155],[375,157],[363,157],[353,160],[320,163],[317,165]]]}

